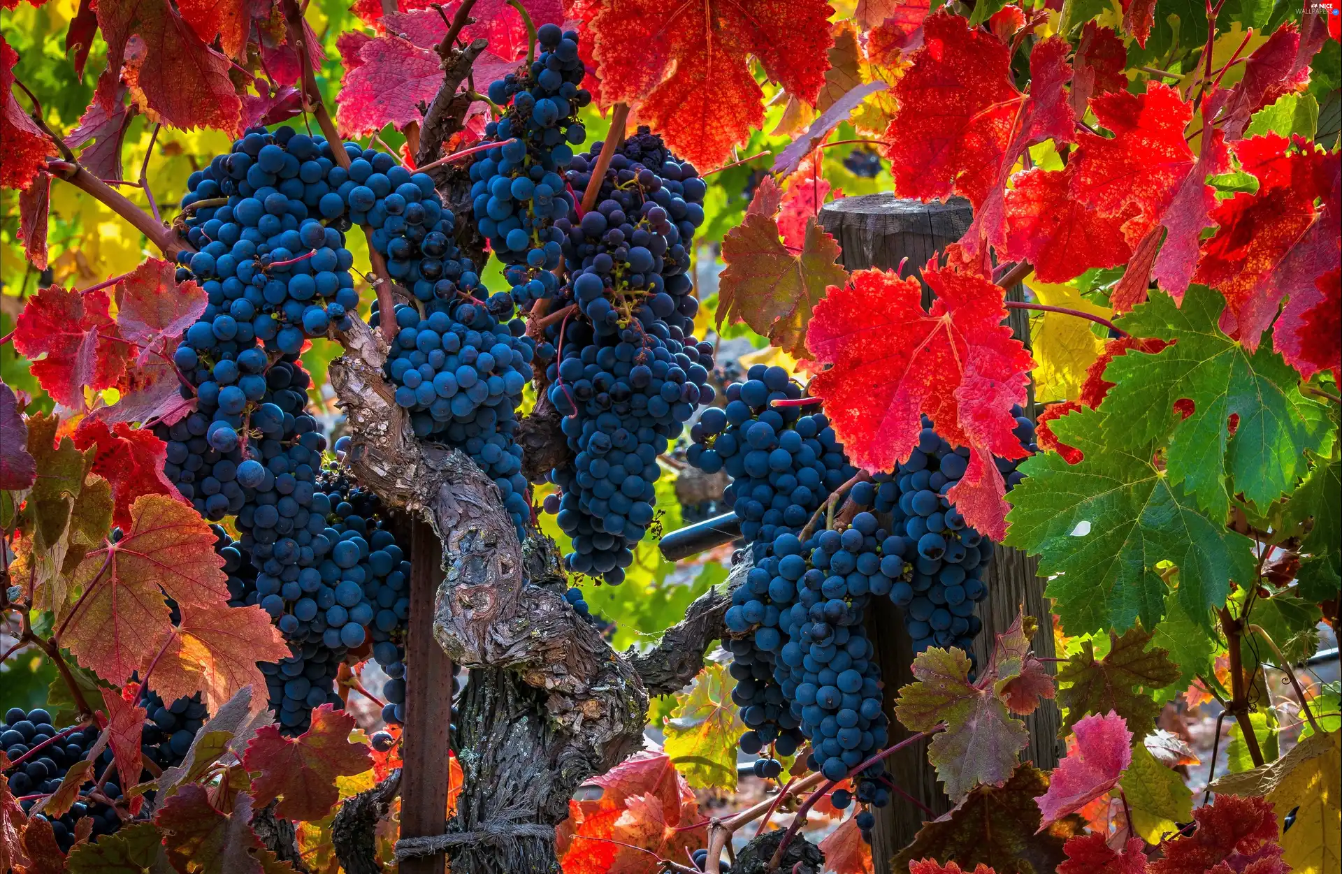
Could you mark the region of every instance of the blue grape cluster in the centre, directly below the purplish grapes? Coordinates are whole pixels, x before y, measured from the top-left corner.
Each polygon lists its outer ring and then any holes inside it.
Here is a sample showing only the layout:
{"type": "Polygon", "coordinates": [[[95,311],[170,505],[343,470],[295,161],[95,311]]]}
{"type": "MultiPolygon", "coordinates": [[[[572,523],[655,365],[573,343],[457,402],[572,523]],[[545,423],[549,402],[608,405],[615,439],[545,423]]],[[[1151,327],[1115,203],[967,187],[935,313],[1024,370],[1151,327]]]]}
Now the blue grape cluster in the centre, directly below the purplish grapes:
{"type": "Polygon", "coordinates": [[[568,570],[624,582],[633,546],[652,524],[658,456],[680,436],[709,383],[713,345],[686,336],[650,307],[624,327],[552,326],[561,358],[546,369],[549,399],[573,452],[550,472],[560,528],[573,539],[568,570]]]}

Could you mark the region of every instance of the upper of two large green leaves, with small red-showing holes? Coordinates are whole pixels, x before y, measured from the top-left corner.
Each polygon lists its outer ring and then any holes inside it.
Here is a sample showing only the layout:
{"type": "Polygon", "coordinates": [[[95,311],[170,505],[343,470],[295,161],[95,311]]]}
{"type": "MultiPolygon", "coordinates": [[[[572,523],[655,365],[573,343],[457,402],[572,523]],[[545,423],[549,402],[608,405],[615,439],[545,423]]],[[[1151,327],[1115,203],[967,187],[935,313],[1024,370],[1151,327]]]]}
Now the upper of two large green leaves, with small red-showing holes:
{"type": "Polygon", "coordinates": [[[1170,483],[1213,520],[1227,517],[1231,495],[1257,507],[1290,495],[1308,472],[1306,452],[1333,440],[1326,408],[1300,394],[1295,369],[1267,345],[1249,354],[1221,332],[1224,308],[1220,294],[1193,286],[1181,306],[1153,294],[1121,319],[1125,331],[1172,345],[1115,358],[1104,370],[1115,385],[1100,406],[1115,446],[1169,441],[1170,483]],[[1180,420],[1174,405],[1185,401],[1193,410],[1180,420]]]}

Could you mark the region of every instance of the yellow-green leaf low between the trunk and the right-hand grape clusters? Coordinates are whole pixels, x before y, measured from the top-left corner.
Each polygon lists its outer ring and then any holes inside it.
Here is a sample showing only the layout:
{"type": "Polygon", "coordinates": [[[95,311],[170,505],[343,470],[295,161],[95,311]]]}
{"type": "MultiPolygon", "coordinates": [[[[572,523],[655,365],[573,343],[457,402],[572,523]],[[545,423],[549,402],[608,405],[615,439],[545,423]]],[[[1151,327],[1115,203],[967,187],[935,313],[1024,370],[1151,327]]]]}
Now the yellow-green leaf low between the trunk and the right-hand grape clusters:
{"type": "Polygon", "coordinates": [[[731,700],[735,686],[727,665],[710,661],[664,723],[666,753],[691,788],[737,788],[737,739],[746,727],[731,700]]]}

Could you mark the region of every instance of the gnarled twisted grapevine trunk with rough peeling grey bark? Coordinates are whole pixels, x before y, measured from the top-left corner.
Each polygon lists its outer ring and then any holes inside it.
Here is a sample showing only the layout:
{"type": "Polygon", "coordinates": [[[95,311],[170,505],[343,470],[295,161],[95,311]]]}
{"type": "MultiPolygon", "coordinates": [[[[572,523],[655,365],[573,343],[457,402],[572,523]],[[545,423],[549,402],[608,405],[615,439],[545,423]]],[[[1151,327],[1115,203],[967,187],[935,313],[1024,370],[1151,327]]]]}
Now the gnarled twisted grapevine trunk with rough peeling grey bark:
{"type": "Polygon", "coordinates": [[[451,869],[556,871],[553,836],[510,836],[509,826],[553,828],[585,779],[641,748],[648,696],[699,672],[723,634],[727,597],[701,597],[651,651],[615,653],[565,602],[553,543],[539,534],[518,543],[494,483],[466,454],[413,437],[381,374],[381,336],[356,323],[344,339],[330,382],[349,417],[346,462],[442,540],[433,635],[471,672],[458,701],[464,787],[447,830],[480,836],[448,850],[451,869]]]}

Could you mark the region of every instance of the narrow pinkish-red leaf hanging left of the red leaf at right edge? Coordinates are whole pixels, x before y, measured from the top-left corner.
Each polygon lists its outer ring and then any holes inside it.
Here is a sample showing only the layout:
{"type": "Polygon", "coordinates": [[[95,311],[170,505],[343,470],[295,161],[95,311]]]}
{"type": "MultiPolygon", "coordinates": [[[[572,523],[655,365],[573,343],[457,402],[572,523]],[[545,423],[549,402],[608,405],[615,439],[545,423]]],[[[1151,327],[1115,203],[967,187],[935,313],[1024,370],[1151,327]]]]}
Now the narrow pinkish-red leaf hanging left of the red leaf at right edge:
{"type": "Polygon", "coordinates": [[[1184,177],[1170,208],[1165,210],[1161,224],[1168,233],[1161,245],[1151,277],[1161,288],[1184,300],[1184,292],[1197,268],[1197,252],[1202,243],[1202,231],[1212,227],[1212,210],[1216,209],[1216,189],[1206,184],[1206,177],[1227,173],[1231,169],[1231,154],[1225,149],[1221,131],[1212,129],[1202,135],[1202,151],[1193,170],[1184,177]]]}

